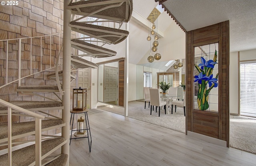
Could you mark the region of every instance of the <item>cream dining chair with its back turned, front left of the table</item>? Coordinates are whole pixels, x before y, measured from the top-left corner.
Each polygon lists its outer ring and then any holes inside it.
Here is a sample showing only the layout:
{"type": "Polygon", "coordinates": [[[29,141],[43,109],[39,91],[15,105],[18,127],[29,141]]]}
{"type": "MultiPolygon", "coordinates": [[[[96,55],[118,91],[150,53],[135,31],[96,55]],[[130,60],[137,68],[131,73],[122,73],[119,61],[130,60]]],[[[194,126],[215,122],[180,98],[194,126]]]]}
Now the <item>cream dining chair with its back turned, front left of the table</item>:
{"type": "Polygon", "coordinates": [[[159,108],[159,116],[160,116],[160,107],[164,106],[164,112],[166,114],[166,102],[165,101],[161,101],[160,100],[160,91],[157,88],[150,88],[149,89],[149,93],[150,93],[150,115],[152,114],[152,106],[154,109],[154,106],[156,106],[159,108]]]}

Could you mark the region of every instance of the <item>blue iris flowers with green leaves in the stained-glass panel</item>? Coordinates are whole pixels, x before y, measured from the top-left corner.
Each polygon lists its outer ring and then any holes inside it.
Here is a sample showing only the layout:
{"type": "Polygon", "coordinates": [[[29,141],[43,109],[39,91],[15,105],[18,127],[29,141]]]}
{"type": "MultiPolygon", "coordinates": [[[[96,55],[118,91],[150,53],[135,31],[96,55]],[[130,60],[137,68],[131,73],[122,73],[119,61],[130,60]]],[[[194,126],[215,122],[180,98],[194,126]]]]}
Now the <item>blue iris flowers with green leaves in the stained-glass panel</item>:
{"type": "Polygon", "coordinates": [[[206,61],[203,57],[201,57],[202,63],[199,65],[195,64],[196,70],[199,72],[198,75],[195,76],[194,82],[198,82],[198,94],[197,94],[197,104],[199,110],[207,110],[209,108],[208,99],[209,93],[212,88],[216,88],[218,86],[218,75],[216,74],[215,78],[213,78],[213,68],[215,64],[218,64],[217,61],[217,51],[215,50],[213,60],[206,61]],[[209,86],[207,86],[207,84],[209,86]]]}

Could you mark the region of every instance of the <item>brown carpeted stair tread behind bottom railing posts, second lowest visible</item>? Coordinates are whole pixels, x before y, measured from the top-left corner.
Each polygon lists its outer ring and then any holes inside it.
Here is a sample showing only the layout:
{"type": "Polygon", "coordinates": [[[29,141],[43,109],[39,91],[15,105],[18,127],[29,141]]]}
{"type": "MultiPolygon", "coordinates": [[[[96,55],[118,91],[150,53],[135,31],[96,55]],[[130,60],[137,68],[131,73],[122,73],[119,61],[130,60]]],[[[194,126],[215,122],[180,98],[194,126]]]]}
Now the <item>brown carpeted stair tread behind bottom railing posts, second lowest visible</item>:
{"type": "MultiPolygon", "coordinates": [[[[64,142],[65,139],[58,137],[42,142],[42,156],[64,142]]],[[[12,166],[28,166],[35,161],[35,145],[30,145],[12,152],[12,166]]],[[[0,166],[8,166],[8,154],[0,156],[0,166]]]]}

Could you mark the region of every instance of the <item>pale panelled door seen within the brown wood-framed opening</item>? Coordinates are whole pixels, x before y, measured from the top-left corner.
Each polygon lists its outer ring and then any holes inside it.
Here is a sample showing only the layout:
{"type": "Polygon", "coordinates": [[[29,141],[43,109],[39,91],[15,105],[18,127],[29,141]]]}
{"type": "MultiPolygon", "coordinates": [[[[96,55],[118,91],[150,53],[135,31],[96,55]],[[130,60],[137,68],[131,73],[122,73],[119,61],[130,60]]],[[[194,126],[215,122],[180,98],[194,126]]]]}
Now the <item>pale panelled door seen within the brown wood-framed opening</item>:
{"type": "Polygon", "coordinates": [[[118,68],[104,66],[104,102],[117,104],[118,68]]]}

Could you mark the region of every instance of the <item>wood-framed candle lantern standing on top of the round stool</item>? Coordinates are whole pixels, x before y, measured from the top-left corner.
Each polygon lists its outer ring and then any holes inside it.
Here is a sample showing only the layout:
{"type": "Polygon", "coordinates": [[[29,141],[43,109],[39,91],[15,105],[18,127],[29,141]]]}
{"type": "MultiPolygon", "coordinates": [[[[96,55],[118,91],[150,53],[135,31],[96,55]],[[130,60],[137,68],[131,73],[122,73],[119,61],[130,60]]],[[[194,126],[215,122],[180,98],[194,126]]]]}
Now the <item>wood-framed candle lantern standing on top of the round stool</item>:
{"type": "Polygon", "coordinates": [[[73,89],[73,111],[86,110],[86,93],[87,89],[81,87],[73,89]]]}

